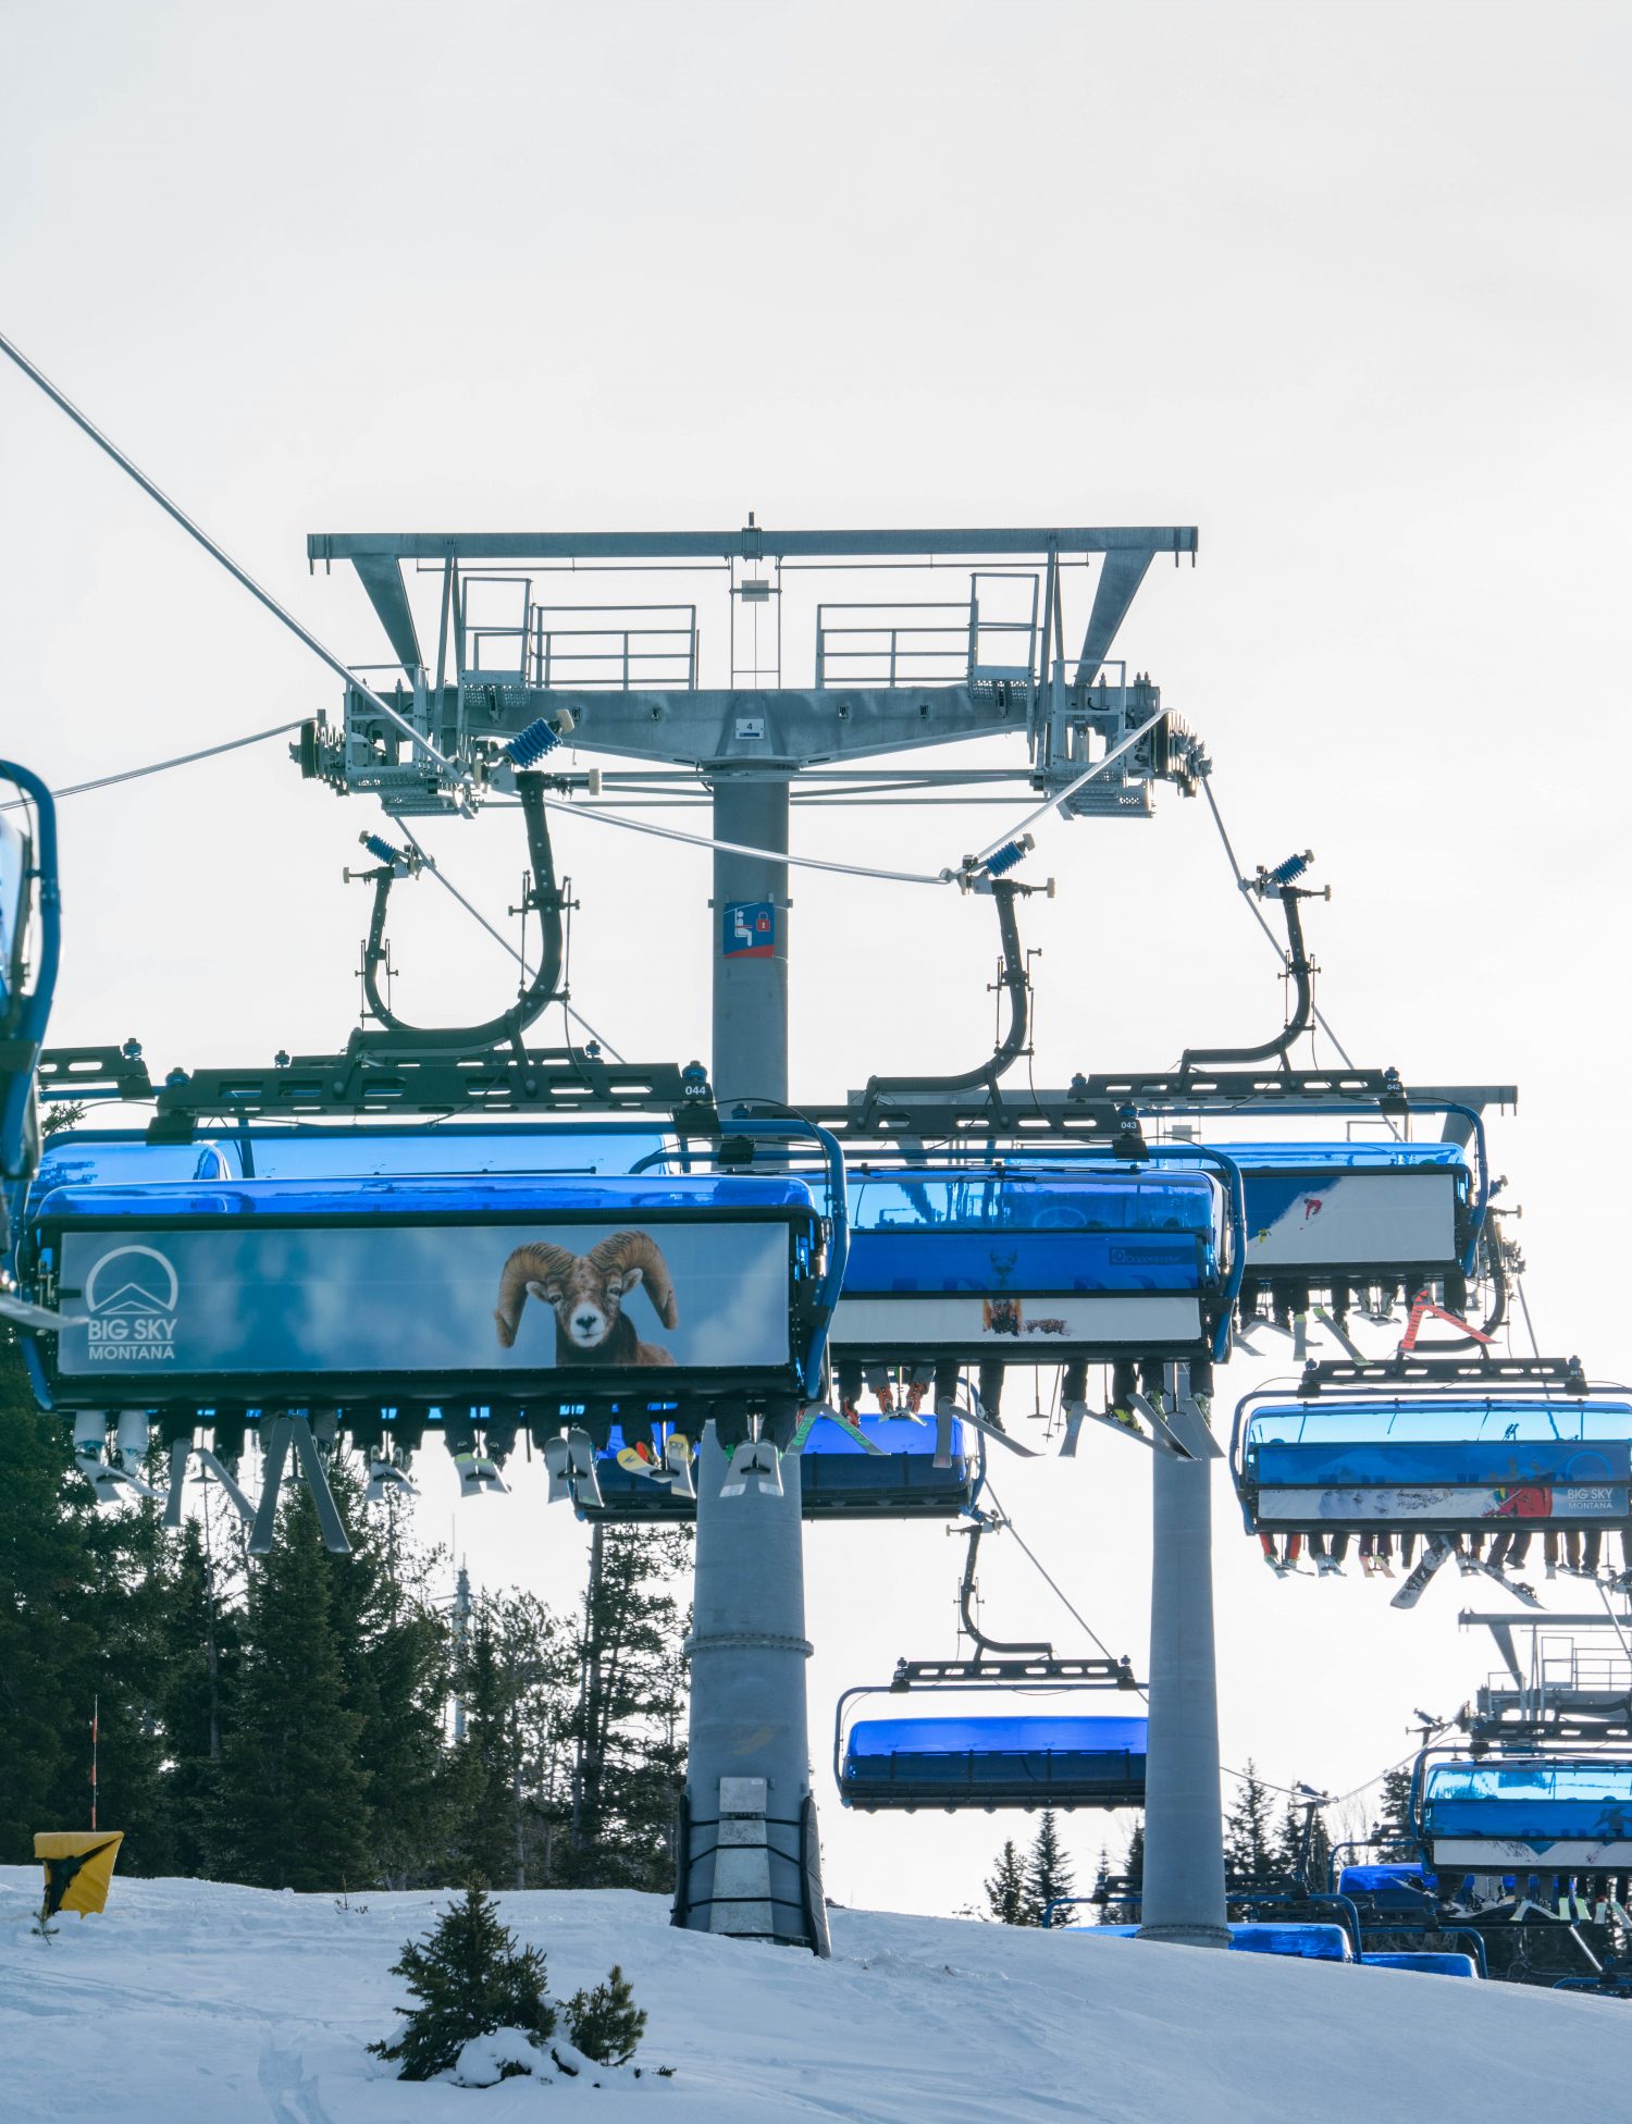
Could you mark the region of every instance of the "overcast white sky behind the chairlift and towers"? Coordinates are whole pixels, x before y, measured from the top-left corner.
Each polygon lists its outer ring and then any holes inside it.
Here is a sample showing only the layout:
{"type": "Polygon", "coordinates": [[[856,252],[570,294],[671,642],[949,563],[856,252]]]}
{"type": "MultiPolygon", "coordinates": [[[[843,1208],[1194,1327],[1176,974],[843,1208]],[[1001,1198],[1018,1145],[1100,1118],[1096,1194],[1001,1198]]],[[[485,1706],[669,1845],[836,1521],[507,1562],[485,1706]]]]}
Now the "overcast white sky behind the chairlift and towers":
{"type": "MultiPolygon", "coordinates": [[[[1118,648],[1205,735],[1243,860],[1318,850],[1349,1049],[1522,1083],[1496,1162],[1541,1340],[1626,1376],[1630,45],[1624,6],[1443,0],[4,0],[0,329],[357,661],[372,614],[306,580],[308,531],[1198,525],[1118,648]]],[[[8,752],[74,782],[336,705],[11,370],[0,452],[8,752]]],[[[939,869],[994,818],[799,835],[939,869]]],[[[64,805],[53,1039],[334,1047],[374,824],[276,746],[64,805]]],[[[514,901],[512,818],[434,845],[514,901]]],[[[631,1056],[703,1051],[706,860],[589,822],[559,847],[576,1000],[631,1056]]],[[[1198,805],[1056,826],[1039,862],[1039,1083],[1260,1037],[1273,964],[1198,805]]],[[[795,1092],[980,1047],[990,913],[903,894],[797,881],[795,1092]]],[[[508,979],[429,888],[393,945],[412,1015],[508,979]]],[[[999,1483],[1143,1663],[1145,1457],[1096,1438],[999,1483]]],[[[580,1570],[531,1483],[457,1542],[552,1595],[580,1570]]],[[[1460,1587],[1396,1616],[1277,1585],[1222,1483],[1218,1544],[1230,1763],[1354,1784],[1485,1672],[1460,1587]]],[[[952,1648],[956,1553],[816,1529],[808,1557],[820,1763],[839,1686],[952,1648]]],[[[1018,1553],[984,1580],[999,1633],[1073,1644],[1018,1553]]],[[[844,1901],[954,1907],[1005,1829],[818,1793],[844,1901]]]]}

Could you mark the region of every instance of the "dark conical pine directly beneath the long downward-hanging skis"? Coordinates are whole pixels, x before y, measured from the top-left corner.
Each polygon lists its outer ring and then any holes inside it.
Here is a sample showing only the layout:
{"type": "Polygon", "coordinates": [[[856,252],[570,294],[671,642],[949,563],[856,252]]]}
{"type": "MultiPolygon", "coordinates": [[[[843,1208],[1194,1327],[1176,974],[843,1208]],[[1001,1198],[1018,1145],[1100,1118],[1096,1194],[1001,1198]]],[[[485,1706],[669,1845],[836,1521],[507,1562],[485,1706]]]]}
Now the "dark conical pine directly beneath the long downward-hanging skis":
{"type": "Polygon", "coordinates": [[[257,1888],[378,1878],[357,1754],[363,1720],[346,1708],[332,1587],[310,1491],[293,1489],[272,1555],[249,1582],[238,1712],[221,1759],[223,1867],[257,1888]]]}

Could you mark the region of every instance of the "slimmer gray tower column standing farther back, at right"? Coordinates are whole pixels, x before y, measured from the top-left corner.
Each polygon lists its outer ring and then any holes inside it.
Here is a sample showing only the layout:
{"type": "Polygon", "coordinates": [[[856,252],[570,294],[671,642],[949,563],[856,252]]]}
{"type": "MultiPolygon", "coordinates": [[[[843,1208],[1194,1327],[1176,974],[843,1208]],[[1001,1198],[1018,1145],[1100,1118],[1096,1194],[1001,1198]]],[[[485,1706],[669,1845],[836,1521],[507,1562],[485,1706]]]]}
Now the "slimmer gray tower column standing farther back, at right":
{"type": "MultiPolygon", "coordinates": [[[[1169,1391],[1188,1393],[1184,1368],[1169,1391]]],[[[1152,1455],[1150,1754],[1141,1939],[1226,1948],[1213,1648],[1213,1463],[1152,1455]]]]}

